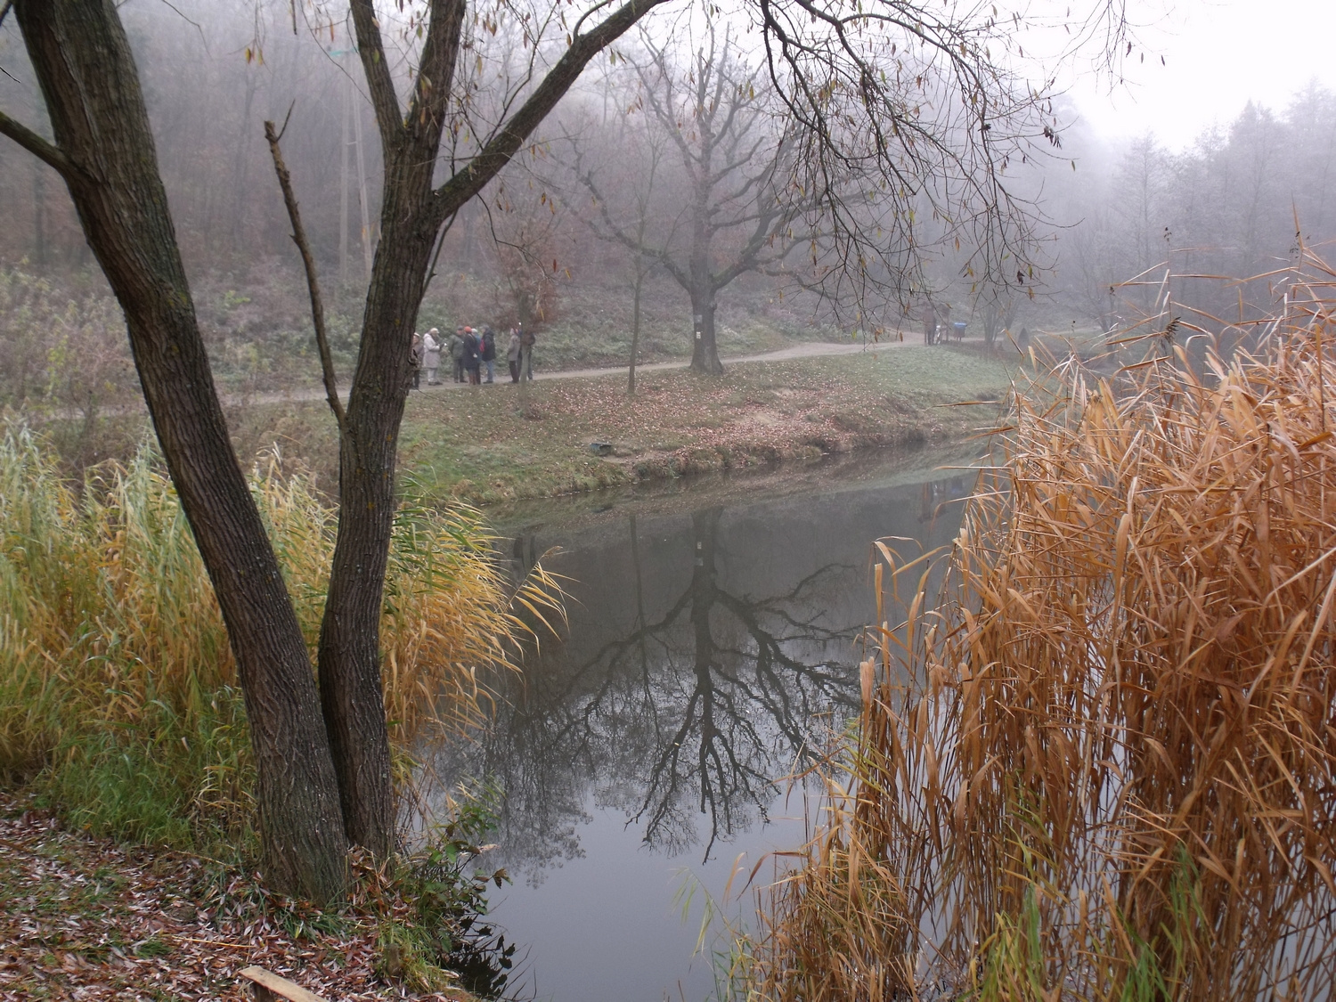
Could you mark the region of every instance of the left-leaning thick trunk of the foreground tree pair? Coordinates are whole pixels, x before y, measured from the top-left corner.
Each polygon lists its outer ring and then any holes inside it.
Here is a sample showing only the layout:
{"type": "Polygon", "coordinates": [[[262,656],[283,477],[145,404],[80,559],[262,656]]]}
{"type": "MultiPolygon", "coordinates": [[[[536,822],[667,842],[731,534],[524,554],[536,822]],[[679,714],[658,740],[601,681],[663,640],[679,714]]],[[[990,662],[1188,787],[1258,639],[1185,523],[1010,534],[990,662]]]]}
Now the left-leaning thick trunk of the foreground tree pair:
{"type": "Polygon", "coordinates": [[[112,0],[17,0],[15,13],[236,656],[266,878],[329,900],[346,839],[310,657],[227,438],[124,29],[112,0]]]}

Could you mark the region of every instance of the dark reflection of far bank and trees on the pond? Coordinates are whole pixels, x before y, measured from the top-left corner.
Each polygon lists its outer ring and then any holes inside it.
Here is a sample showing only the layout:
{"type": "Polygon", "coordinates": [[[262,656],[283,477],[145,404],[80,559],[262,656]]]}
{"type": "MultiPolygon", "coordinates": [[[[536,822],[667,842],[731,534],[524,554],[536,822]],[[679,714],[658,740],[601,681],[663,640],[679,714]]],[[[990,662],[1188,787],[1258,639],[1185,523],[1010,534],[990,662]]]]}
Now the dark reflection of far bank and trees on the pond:
{"type": "Polygon", "coordinates": [[[548,562],[570,578],[569,632],[512,681],[481,743],[437,763],[506,791],[508,866],[541,882],[580,856],[593,811],[700,860],[768,820],[776,779],[856,705],[871,540],[946,542],[943,505],[967,485],[838,486],[512,530],[517,574],[564,549],[548,562]]]}

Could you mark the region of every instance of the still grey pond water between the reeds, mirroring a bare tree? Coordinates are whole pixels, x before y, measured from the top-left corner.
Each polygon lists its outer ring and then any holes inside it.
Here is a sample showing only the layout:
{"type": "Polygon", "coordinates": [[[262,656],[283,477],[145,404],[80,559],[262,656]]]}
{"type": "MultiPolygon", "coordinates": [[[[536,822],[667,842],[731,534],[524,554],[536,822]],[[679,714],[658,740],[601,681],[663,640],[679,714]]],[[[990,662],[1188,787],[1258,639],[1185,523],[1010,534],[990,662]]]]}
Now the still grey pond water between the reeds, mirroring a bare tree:
{"type": "Polygon", "coordinates": [[[711,994],[704,894],[802,844],[782,780],[856,707],[871,542],[949,544],[969,461],[859,456],[493,513],[517,573],[560,548],[544,564],[570,595],[492,732],[437,762],[505,791],[489,867],[514,876],[493,918],[525,953],[520,994],[711,994]]]}

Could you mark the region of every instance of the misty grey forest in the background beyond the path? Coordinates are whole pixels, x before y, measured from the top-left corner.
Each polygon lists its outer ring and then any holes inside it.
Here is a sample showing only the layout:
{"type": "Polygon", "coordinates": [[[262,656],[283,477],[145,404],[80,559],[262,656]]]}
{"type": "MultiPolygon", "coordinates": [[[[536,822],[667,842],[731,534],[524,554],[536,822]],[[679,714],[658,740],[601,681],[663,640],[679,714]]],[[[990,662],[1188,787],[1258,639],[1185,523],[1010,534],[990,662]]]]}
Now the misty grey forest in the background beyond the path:
{"type": "MultiPolygon", "coordinates": [[[[299,25],[294,33],[287,4],[178,7],[130,4],[123,16],[219,378],[247,391],[317,375],[299,262],[262,126],[283,122],[293,95],[283,152],[346,369],[381,192],[378,138],[351,43],[343,31],[317,37],[299,25]]],[[[691,230],[684,211],[695,203],[727,223],[712,247],[716,269],[736,262],[736,277],[717,291],[724,353],[794,338],[880,337],[899,326],[916,335],[926,299],[989,335],[1023,325],[1109,330],[1152,307],[1165,266],[1245,278],[1283,269],[1299,236],[1319,253],[1336,238],[1336,96],[1325,90],[1311,86],[1284,110],[1248,106],[1177,154],[1152,138],[1110,146],[1069,114],[1055,143],[1045,144],[1047,155],[1011,164],[1007,175],[1037,238],[1033,267],[1018,274],[1023,282],[981,285],[970,275],[970,247],[938,239],[945,228],[921,227],[922,266],[886,275],[876,295],[851,307],[810,291],[811,234],[800,214],[758,220],[749,208],[778,174],[784,116],[735,43],[720,33],[669,51],[641,37],[627,49],[631,60],[587,75],[541,139],[454,219],[420,326],[524,321],[546,333],[548,365],[612,365],[629,350],[639,289],[643,357],[689,353],[693,306],[689,277],[679,273],[691,230]],[[735,98],[728,128],[739,160],[732,174],[719,170],[732,187],[708,192],[692,187],[699,138],[680,128],[680,115],[673,127],[673,102],[691,99],[684,84],[703,73],[735,98]],[[762,223],[768,228],[758,248],[762,223]],[[1138,275],[1140,285],[1125,285],[1138,275]]],[[[0,80],[5,108],[43,123],[12,25],[0,32],[0,61],[13,75],[0,80]]],[[[504,53],[497,65],[486,72],[505,72],[504,53]]],[[[480,100],[484,76],[470,83],[480,100]]],[[[465,130],[456,150],[468,152],[474,139],[465,130]]],[[[0,143],[0,218],[4,401],[104,406],[132,391],[119,313],[64,184],[12,143],[0,143]],[[80,359],[77,371],[60,370],[55,349],[80,359]]],[[[886,259],[894,258],[892,247],[886,259]]],[[[1180,302],[1237,313],[1237,287],[1173,282],[1180,302]]],[[[1248,298],[1265,299],[1265,285],[1248,286],[1248,298]]]]}

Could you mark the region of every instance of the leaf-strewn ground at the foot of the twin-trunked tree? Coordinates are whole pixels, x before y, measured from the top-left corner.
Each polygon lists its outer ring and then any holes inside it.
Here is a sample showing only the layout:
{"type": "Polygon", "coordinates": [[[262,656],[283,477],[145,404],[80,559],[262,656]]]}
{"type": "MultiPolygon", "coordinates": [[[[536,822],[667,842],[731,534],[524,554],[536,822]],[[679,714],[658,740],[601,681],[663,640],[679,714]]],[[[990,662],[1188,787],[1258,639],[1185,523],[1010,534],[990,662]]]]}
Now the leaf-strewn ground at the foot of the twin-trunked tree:
{"type": "Polygon", "coordinates": [[[359,886],[322,912],[199,856],[67,831],[0,794],[0,1001],[248,999],[238,971],[250,965],[331,1001],[468,999],[394,983],[386,922],[409,925],[394,912],[411,906],[359,886]]]}

